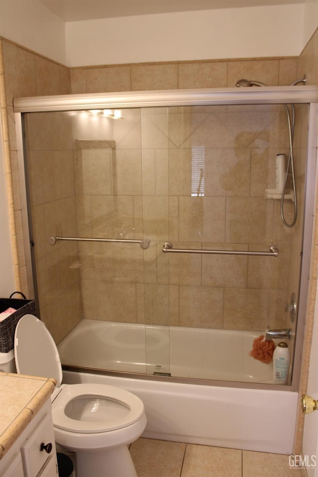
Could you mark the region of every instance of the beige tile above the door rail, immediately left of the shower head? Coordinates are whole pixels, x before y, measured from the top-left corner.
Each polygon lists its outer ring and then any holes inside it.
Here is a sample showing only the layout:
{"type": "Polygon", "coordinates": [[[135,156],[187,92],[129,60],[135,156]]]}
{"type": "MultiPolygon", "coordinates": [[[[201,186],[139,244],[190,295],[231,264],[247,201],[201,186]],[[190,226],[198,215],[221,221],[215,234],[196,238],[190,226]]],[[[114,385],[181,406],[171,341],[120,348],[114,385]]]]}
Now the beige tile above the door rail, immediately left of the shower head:
{"type": "Polygon", "coordinates": [[[227,76],[227,62],[179,63],[179,89],[225,88],[227,76]]]}

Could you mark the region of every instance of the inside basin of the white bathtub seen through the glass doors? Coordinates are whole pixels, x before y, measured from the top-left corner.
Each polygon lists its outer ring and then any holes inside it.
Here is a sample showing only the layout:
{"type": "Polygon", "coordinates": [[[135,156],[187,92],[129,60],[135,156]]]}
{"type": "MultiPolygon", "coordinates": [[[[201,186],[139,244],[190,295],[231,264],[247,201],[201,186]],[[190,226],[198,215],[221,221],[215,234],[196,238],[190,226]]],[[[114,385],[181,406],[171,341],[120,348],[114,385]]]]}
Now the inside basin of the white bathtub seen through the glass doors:
{"type": "Polygon", "coordinates": [[[173,377],[272,383],[251,358],[259,332],[83,319],[59,344],[63,364],[173,377]]]}

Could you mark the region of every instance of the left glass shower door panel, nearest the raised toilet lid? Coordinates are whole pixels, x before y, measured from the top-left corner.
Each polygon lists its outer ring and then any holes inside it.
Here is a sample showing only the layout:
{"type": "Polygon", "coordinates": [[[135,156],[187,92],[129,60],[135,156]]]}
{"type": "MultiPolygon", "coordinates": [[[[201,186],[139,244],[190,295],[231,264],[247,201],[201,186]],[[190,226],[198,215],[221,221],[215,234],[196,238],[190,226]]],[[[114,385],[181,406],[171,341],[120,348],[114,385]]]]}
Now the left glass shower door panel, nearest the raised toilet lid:
{"type": "Polygon", "coordinates": [[[26,116],[41,318],[63,364],[145,373],[140,110],[26,116]]]}

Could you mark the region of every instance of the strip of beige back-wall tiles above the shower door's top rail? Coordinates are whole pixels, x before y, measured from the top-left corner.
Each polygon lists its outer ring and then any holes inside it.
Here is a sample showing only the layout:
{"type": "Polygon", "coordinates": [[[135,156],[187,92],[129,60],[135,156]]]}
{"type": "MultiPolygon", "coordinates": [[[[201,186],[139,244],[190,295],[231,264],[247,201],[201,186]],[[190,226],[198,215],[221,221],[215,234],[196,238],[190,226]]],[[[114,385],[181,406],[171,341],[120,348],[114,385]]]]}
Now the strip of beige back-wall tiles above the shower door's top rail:
{"type": "Polygon", "coordinates": [[[73,68],[72,93],[233,87],[240,78],[268,85],[295,81],[297,59],[195,61],[73,68]]]}

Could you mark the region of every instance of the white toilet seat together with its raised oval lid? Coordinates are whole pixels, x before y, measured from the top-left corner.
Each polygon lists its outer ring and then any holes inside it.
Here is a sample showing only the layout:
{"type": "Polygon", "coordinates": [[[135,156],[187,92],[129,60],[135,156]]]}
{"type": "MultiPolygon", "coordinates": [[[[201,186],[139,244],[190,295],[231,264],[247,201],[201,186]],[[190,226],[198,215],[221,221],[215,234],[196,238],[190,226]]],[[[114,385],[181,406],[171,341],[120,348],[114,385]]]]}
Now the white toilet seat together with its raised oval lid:
{"type": "Polygon", "coordinates": [[[104,384],[61,386],[63,375],[57,346],[43,321],[33,315],[24,315],[18,321],[14,356],[19,374],[57,380],[59,389],[53,393],[52,402],[55,428],[96,434],[131,426],[144,416],[141,399],[123,389],[104,384]]]}

